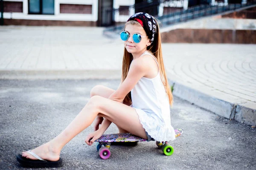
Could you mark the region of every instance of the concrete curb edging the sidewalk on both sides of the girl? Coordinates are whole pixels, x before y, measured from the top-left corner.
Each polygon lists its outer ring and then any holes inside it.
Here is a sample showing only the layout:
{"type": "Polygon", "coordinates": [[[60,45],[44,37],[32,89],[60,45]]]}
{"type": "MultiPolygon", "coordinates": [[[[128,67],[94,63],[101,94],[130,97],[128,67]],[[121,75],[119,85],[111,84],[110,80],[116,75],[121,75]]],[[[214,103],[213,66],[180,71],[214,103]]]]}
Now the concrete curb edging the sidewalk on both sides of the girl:
{"type": "MultiPolygon", "coordinates": [[[[247,125],[256,125],[256,104],[222,99],[206,91],[184,85],[169,74],[169,84],[174,86],[173,95],[198,105],[213,113],[234,119],[247,125]],[[172,77],[170,79],[170,77],[172,77]]],[[[121,70],[0,70],[0,79],[120,79],[121,70]]],[[[214,92],[216,93],[216,92],[214,92]]]]}

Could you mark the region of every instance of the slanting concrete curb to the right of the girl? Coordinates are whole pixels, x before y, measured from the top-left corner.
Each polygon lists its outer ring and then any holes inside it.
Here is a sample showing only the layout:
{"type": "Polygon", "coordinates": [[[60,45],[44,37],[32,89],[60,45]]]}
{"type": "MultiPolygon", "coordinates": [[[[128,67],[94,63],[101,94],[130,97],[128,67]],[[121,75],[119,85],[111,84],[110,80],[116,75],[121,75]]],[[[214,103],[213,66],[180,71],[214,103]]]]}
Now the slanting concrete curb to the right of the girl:
{"type": "Polygon", "coordinates": [[[173,95],[208,111],[247,125],[256,125],[256,103],[229,102],[169,79],[173,95]]]}

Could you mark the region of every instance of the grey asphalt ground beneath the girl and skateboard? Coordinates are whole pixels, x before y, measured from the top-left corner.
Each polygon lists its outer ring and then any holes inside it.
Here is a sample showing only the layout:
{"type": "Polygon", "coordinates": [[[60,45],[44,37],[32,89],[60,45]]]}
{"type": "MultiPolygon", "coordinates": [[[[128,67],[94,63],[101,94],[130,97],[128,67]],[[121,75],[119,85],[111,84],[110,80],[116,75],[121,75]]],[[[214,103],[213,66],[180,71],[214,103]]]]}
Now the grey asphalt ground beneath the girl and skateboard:
{"type": "MultiPolygon", "coordinates": [[[[16,155],[64,130],[88,102],[91,88],[99,84],[116,89],[119,80],[0,80],[0,169],[29,169],[18,164],[16,155]]],[[[172,156],[163,155],[151,141],[135,147],[111,146],[111,157],[103,160],[95,145],[84,142],[93,131],[90,126],[61,151],[63,167],[52,169],[256,169],[255,128],[177,97],[174,101],[172,126],[183,129],[183,134],[170,142],[172,156]]],[[[117,132],[112,124],[105,133],[117,132]]]]}

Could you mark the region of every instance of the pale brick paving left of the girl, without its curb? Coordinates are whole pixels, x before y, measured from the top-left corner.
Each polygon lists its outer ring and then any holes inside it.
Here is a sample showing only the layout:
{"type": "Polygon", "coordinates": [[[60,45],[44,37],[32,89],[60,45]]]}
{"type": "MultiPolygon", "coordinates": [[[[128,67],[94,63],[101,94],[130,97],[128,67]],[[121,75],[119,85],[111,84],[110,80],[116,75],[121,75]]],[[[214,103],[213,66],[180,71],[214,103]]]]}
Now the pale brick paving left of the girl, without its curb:
{"type": "Polygon", "coordinates": [[[122,50],[117,48],[119,54],[110,49],[116,45],[122,48],[122,44],[102,37],[102,30],[93,27],[0,27],[0,69],[119,69],[122,50]]]}

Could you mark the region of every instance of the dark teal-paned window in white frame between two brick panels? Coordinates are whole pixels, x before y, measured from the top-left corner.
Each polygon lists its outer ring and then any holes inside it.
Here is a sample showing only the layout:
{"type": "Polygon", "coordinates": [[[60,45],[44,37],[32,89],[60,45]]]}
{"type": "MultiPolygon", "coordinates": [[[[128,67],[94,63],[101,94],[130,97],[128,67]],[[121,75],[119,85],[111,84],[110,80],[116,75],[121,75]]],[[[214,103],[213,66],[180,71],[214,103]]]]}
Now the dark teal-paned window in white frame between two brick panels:
{"type": "Polygon", "coordinates": [[[29,14],[54,14],[54,0],[29,0],[29,14]]]}

